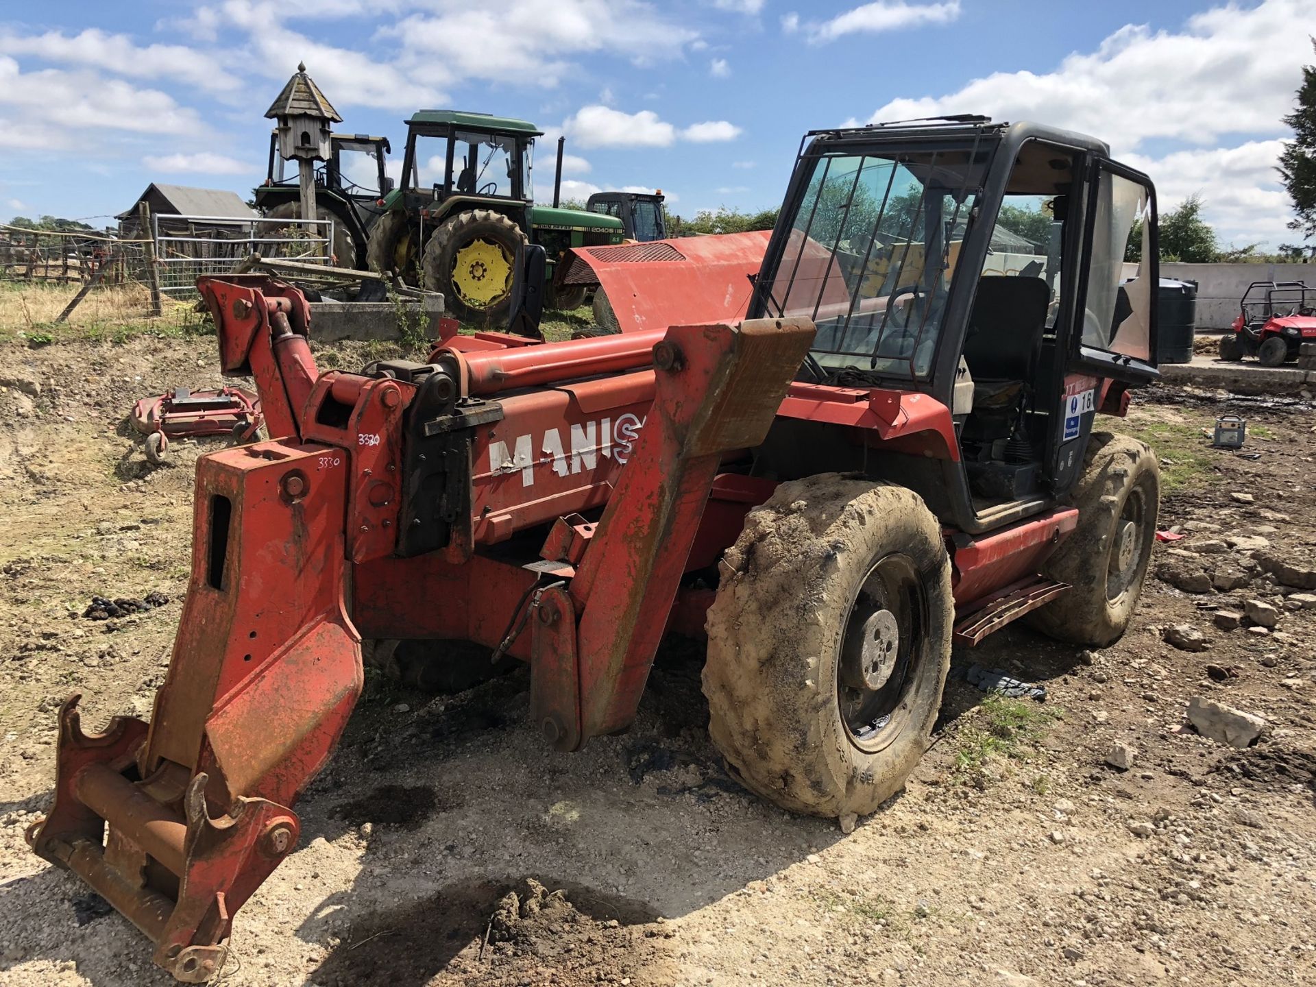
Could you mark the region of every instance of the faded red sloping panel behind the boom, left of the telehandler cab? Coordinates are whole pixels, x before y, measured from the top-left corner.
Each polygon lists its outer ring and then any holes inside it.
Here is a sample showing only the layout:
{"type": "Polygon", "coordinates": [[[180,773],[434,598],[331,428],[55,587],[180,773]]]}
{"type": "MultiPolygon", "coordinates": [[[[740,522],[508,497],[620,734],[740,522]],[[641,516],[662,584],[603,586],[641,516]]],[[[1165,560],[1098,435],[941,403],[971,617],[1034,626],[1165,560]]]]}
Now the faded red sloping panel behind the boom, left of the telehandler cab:
{"type": "Polygon", "coordinates": [[[575,247],[561,265],[565,284],[599,284],[621,332],[736,322],[754,292],[771,230],[575,247]]]}

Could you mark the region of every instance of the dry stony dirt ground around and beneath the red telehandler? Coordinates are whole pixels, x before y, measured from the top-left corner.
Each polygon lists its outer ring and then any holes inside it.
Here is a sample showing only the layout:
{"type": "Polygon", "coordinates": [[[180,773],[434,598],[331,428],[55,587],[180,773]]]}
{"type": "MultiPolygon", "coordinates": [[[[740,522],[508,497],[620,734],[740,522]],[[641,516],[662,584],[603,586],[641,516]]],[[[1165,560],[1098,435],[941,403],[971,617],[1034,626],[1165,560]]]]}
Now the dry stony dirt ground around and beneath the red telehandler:
{"type": "MultiPolygon", "coordinates": [[[[149,715],[186,590],[192,466],[213,446],[150,468],[124,420],[141,395],[216,384],[213,345],[0,346],[3,984],[171,983],[22,832],[49,803],[66,695],[84,694],[91,729],[149,715]],[[149,592],[168,603],[82,617],[92,595],[149,592]]],[[[297,805],[301,845],[237,916],[222,983],[1316,983],[1316,609],[1286,608],[1302,591],[1248,541],[1316,567],[1313,426],[1302,404],[1140,395],[1120,428],[1159,447],[1161,528],[1187,534],[1153,566],[1246,586],[1149,578],[1112,647],[1015,625],[957,655],[1048,697],[951,682],[907,791],[849,836],[726,776],[690,642],[663,646],[634,728],[579,754],[532,729],[524,672],[438,699],[371,678],[297,805]],[[1202,437],[1225,411],[1252,425],[1245,454],[1202,437]],[[1273,633],[1215,626],[1248,599],[1278,609],[1273,633]],[[1173,625],[1209,649],[1166,644],[1173,625]],[[1198,736],[1192,696],[1267,730],[1245,750],[1198,736]],[[1129,770],[1105,763],[1117,741],[1129,770]]]]}

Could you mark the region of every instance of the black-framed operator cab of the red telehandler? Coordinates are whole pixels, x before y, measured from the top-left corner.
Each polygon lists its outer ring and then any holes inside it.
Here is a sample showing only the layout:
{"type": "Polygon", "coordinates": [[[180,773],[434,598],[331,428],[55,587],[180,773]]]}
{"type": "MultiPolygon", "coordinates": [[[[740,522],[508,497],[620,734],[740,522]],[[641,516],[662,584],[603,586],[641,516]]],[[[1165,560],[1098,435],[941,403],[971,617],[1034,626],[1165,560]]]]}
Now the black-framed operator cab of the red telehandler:
{"type": "MultiPolygon", "coordinates": [[[[854,468],[983,532],[1065,495],[1096,412],[1157,376],[1155,258],[1152,182],[1094,138],[986,117],[821,130],[801,142],[749,316],[816,322],[799,380],[828,413],[865,401],[878,425],[855,430],[854,468]],[[867,455],[911,429],[904,455],[867,455]]],[[[812,425],[779,421],[762,468],[836,463],[812,425]]]]}

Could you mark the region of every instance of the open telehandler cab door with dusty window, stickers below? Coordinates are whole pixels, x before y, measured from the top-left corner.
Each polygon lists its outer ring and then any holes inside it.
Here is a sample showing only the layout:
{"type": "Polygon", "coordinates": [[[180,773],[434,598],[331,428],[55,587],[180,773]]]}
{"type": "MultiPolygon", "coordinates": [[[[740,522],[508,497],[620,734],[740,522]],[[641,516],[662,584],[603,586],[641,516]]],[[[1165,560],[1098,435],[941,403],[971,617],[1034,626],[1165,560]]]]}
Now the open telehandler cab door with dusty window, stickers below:
{"type": "Polygon", "coordinates": [[[1108,383],[1137,386],[1159,376],[1155,188],[1141,171],[1100,159],[1090,166],[1075,280],[1078,304],[1051,438],[1057,492],[1069,490],[1082,467],[1108,383]]]}

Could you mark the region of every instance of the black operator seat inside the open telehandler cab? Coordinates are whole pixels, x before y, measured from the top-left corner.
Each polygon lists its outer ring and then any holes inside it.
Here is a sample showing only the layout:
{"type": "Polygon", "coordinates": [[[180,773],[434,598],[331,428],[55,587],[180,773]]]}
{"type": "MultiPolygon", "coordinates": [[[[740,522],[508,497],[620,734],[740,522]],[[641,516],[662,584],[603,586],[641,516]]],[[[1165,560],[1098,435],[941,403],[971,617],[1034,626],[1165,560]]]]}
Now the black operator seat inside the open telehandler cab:
{"type": "Polygon", "coordinates": [[[1013,403],[1032,382],[1050,300],[1042,278],[990,274],[978,279],[965,338],[975,405],[1013,403]]]}

